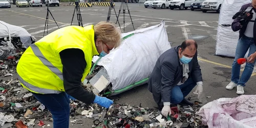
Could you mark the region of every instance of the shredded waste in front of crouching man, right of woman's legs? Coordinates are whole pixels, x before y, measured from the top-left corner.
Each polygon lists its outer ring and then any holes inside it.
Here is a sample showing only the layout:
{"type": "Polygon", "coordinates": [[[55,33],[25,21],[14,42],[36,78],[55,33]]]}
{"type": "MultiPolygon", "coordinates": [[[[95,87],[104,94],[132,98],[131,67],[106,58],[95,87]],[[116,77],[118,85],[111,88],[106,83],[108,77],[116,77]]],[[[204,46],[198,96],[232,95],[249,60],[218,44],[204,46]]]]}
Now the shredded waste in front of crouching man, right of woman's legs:
{"type": "MultiPolygon", "coordinates": [[[[161,115],[158,109],[151,109],[130,104],[112,104],[109,109],[103,109],[97,104],[85,105],[73,100],[71,103],[71,116],[80,115],[80,118],[93,120],[92,127],[208,127],[202,124],[201,116],[195,113],[199,111],[200,102],[195,101],[191,107],[173,106],[172,114],[168,117],[161,115]],[[79,107],[80,106],[80,107],[79,107]],[[81,107],[82,106],[82,107],[81,107]]],[[[73,123],[81,123],[82,120],[74,119],[73,123]]]]}

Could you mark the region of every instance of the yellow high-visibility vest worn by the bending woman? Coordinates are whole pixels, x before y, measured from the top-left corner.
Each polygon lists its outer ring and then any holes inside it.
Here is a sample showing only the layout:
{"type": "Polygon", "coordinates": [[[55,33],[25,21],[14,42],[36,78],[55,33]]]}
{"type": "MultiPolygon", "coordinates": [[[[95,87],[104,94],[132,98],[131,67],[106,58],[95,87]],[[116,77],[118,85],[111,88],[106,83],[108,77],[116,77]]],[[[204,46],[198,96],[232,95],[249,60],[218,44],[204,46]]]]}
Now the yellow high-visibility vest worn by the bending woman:
{"type": "Polygon", "coordinates": [[[20,84],[34,93],[65,92],[59,53],[70,48],[81,49],[84,53],[87,66],[81,79],[83,81],[91,69],[93,56],[99,55],[93,25],[60,28],[32,44],[17,64],[20,84]]]}

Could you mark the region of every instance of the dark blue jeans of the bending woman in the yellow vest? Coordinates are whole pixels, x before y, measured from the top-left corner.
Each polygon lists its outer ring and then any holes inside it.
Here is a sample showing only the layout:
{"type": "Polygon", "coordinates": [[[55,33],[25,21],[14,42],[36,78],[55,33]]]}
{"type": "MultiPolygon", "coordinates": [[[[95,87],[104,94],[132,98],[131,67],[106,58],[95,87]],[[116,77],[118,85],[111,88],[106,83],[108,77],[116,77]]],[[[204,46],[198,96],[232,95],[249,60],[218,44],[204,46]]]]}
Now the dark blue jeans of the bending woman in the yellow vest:
{"type": "Polygon", "coordinates": [[[60,94],[32,94],[52,113],[54,128],[69,127],[70,99],[68,98],[67,93],[61,92],[60,94]]]}

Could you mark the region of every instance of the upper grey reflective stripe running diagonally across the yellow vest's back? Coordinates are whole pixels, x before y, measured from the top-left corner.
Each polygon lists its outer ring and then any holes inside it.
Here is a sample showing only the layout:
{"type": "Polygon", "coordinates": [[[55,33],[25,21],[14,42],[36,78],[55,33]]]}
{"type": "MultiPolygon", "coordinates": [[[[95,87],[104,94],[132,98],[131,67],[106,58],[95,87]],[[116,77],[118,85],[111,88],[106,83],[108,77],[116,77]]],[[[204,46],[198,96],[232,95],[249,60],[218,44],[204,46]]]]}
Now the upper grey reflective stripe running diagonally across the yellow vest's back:
{"type": "Polygon", "coordinates": [[[44,63],[45,66],[47,66],[53,73],[55,73],[63,81],[62,73],[59,71],[58,68],[54,67],[49,60],[46,59],[46,57],[42,54],[39,48],[35,44],[32,44],[30,47],[34,52],[35,56],[37,56],[41,60],[41,62],[44,63]]]}

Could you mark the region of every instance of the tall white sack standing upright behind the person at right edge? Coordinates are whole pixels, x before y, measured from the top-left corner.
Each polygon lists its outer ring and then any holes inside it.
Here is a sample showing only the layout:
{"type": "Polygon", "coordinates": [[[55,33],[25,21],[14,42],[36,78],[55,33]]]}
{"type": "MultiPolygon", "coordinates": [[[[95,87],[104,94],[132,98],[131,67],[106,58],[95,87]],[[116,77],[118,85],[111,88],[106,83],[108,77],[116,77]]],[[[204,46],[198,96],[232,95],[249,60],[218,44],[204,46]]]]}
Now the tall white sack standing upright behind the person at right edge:
{"type": "MultiPolygon", "coordinates": [[[[232,16],[236,14],[240,8],[251,3],[251,0],[224,0],[221,5],[219,16],[219,25],[217,30],[216,55],[234,57],[239,39],[239,31],[234,32],[231,29],[233,22],[232,16]],[[223,26],[230,25],[230,26],[223,26]]],[[[248,52],[246,56],[248,55],[248,52]]]]}

